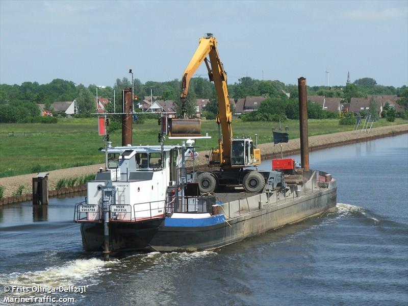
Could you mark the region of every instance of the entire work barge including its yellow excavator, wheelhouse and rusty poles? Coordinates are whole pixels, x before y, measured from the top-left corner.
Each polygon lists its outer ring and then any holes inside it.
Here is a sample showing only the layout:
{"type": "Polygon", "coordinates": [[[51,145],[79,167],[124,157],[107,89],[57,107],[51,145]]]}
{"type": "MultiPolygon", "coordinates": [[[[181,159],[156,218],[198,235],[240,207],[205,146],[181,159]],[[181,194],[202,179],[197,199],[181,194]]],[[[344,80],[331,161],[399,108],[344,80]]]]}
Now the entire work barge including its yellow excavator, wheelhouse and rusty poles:
{"type": "MultiPolygon", "coordinates": [[[[123,91],[123,146],[106,144],[105,171],[100,169],[95,180],[87,183],[86,200],[75,206],[74,221],[81,223],[85,250],[105,254],[213,250],[336,206],[336,181],[309,168],[305,79],[298,79],[302,168],[296,168],[293,160],[281,159],[267,170],[258,169],[257,141],[233,135],[226,81],[217,41],[207,33],[183,73],[181,117],[161,114],[160,146],[130,145],[132,96],[130,89],[123,91]],[[188,177],[186,152],[194,149],[192,139],[203,137],[201,122],[187,118],[185,102],[189,81],[203,61],[214,82],[219,109],[218,148],[211,148],[208,165],[219,170],[188,177]],[[164,135],[186,142],[164,145],[164,135]]],[[[279,142],[287,141],[287,134],[281,136],[285,140],[279,142]]]]}

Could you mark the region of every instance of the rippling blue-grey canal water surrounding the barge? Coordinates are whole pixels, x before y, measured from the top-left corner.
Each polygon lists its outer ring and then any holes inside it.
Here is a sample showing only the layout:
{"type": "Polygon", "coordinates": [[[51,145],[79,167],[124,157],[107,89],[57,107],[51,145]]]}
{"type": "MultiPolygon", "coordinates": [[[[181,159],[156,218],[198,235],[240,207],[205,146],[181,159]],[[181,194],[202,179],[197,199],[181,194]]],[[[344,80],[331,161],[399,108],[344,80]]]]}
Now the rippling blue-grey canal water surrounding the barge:
{"type": "Polygon", "coordinates": [[[0,304],[46,295],[4,292],[17,285],[87,286],[49,294],[79,305],[407,305],[408,135],[311,152],[310,165],[336,178],[336,212],[211,252],[106,262],[82,250],[83,198],[0,209],[0,304]]]}

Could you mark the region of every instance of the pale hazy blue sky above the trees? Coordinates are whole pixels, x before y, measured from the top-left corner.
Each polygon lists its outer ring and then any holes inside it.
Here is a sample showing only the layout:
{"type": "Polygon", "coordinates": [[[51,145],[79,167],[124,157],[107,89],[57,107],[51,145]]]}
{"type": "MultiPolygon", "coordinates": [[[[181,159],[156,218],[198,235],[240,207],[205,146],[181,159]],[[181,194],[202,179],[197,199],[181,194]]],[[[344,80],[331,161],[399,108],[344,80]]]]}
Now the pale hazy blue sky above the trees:
{"type": "MultiPolygon", "coordinates": [[[[3,1],[0,83],[181,79],[213,33],[228,84],[408,85],[408,1],[3,1]]],[[[195,72],[207,77],[205,65],[195,72]]]]}

